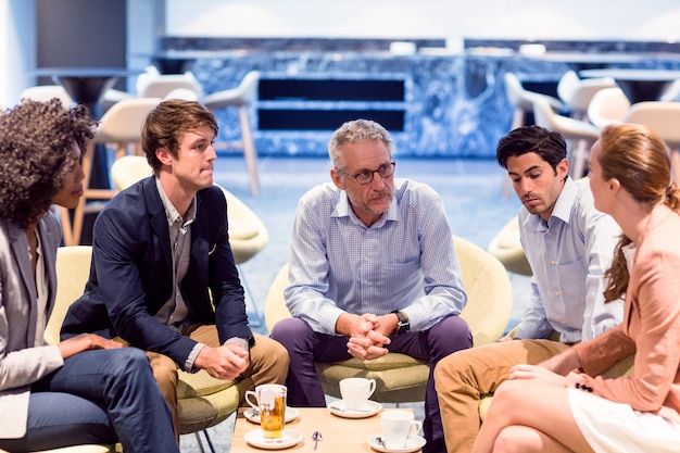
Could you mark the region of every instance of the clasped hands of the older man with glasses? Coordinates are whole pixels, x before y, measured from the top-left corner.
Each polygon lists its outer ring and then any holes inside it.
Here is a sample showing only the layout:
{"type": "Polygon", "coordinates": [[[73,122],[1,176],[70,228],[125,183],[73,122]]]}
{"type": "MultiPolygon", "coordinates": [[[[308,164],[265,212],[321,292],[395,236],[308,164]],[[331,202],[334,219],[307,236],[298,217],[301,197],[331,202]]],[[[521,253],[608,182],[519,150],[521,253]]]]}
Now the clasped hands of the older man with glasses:
{"type": "Polygon", "coordinates": [[[374,314],[350,315],[348,352],[356,358],[370,361],[386,355],[385,344],[390,343],[389,336],[396,326],[393,314],[377,316],[374,314]]]}

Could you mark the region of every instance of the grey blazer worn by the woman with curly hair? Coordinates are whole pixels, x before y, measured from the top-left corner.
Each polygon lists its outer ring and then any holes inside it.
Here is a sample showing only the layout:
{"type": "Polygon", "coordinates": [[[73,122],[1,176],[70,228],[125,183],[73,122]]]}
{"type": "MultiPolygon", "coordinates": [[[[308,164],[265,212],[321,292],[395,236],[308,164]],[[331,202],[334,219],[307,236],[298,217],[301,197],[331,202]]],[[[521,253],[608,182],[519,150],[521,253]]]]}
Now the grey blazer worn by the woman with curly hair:
{"type": "MultiPolygon", "coordinates": [[[[49,287],[47,318],[54,306],[54,263],[61,230],[48,213],[38,224],[49,287]]],[[[36,284],[26,235],[0,218],[0,438],[26,433],[30,385],[64,363],[59,348],[36,344],[36,284]]],[[[40,335],[42,338],[42,335],[40,335]]]]}

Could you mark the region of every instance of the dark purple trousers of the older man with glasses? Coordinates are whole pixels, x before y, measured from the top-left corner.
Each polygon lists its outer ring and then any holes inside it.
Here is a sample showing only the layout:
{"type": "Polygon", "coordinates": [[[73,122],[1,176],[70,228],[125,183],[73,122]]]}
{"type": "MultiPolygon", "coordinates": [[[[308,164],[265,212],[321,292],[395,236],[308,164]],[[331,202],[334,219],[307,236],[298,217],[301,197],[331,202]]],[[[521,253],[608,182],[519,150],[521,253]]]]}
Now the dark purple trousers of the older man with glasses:
{"type": "MultiPolygon", "coordinates": [[[[317,334],[299,318],[286,318],[272,329],[270,337],[288,350],[288,403],[291,406],[325,407],[326,398],[316,375],[314,362],[335,363],[351,358],[348,338],[317,334]]],[[[467,323],[458,316],[449,316],[430,329],[390,337],[386,348],[412,357],[428,361],[430,376],[425,393],[425,420],[423,431],[427,440],[424,452],[444,452],[444,435],[439,414],[439,401],[432,374],[437,363],[449,354],[473,347],[473,335],[467,323]]]]}

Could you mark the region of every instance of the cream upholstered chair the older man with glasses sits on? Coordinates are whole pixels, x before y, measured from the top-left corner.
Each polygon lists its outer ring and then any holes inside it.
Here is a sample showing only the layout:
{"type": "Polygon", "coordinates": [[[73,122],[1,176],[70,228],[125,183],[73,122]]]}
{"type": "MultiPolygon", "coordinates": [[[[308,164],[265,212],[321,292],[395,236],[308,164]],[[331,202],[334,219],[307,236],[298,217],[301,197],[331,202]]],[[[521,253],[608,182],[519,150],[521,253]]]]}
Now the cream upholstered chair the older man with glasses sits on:
{"type": "MultiPolygon", "coordinates": [[[[513,290],[503,265],[483,249],[454,237],[468,302],[462,317],[473,331],[475,345],[496,341],[503,335],[513,306],[513,290]]],[[[272,329],[277,320],[290,316],[284,300],[288,286],[288,265],[277,275],[265,307],[265,323],[272,329]]],[[[425,399],[429,376],[427,362],[405,354],[390,353],[374,361],[350,358],[336,364],[317,363],[316,372],[324,392],[340,398],[339,381],[348,377],[376,379],[372,399],[386,403],[416,402],[425,399]]]]}

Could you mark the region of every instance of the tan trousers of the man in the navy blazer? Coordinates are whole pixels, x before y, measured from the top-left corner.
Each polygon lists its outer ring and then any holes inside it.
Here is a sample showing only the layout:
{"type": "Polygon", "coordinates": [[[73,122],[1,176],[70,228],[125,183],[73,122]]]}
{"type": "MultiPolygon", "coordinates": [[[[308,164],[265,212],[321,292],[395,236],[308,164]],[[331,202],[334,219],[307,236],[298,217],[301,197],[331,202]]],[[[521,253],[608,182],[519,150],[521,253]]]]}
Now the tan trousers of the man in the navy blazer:
{"type": "MultiPolygon", "coordinates": [[[[199,326],[187,330],[192,340],[212,348],[219,347],[217,328],[214,325],[199,326]]],[[[252,390],[261,383],[286,383],[288,376],[288,352],[277,341],[259,334],[253,335],[255,344],[250,349],[250,366],[238,378],[240,402],[244,403],[245,390],[252,390]]],[[[119,338],[124,344],[129,345],[119,338]]],[[[153,376],[161,388],[161,393],[169,406],[173,416],[175,436],[179,442],[179,417],[177,414],[177,364],[167,355],[146,351],[153,370],[153,376]]]]}

